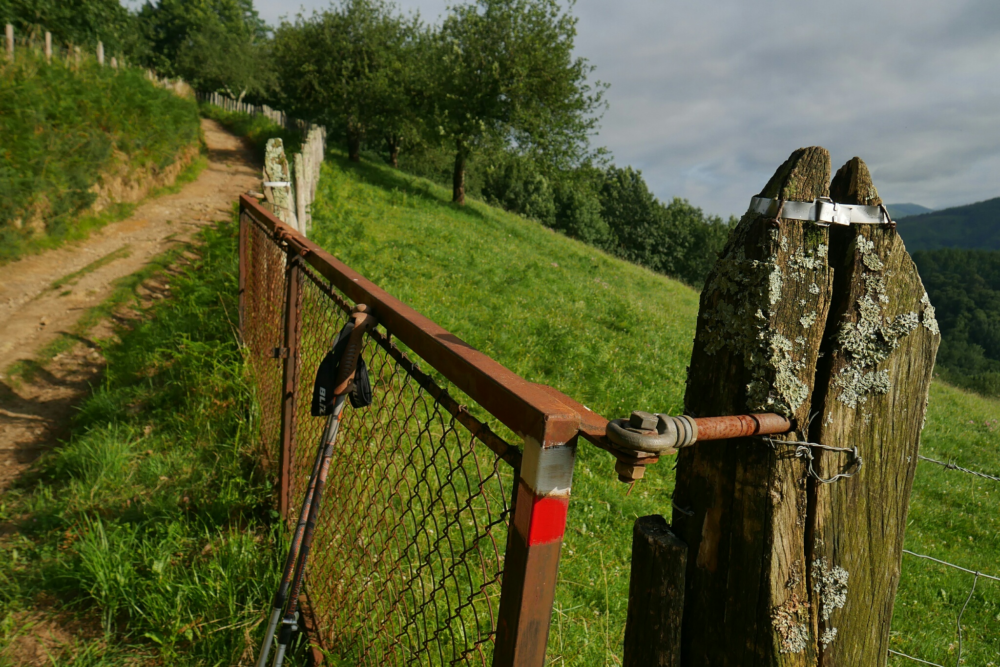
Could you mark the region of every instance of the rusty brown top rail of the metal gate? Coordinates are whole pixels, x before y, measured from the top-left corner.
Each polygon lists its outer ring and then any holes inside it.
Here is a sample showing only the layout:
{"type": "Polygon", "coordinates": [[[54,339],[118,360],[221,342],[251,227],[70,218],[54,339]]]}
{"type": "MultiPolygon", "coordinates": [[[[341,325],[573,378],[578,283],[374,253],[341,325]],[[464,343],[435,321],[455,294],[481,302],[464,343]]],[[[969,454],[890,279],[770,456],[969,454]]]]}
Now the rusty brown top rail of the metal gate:
{"type": "Polygon", "coordinates": [[[565,444],[576,436],[580,417],[563,403],[393,297],[253,198],[240,195],[240,207],[347,298],[371,306],[387,331],[514,433],[545,447],[565,444]]]}

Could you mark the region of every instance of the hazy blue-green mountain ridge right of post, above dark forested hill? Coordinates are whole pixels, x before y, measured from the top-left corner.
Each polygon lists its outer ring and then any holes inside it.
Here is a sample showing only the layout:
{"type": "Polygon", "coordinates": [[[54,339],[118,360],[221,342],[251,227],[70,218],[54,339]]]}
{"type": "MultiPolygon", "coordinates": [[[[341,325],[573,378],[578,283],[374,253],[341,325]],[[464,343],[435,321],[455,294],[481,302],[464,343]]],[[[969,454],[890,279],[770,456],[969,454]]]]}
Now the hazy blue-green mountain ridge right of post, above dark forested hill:
{"type": "Polygon", "coordinates": [[[1000,250],[1000,197],[909,215],[896,222],[910,252],[937,248],[1000,250]]]}

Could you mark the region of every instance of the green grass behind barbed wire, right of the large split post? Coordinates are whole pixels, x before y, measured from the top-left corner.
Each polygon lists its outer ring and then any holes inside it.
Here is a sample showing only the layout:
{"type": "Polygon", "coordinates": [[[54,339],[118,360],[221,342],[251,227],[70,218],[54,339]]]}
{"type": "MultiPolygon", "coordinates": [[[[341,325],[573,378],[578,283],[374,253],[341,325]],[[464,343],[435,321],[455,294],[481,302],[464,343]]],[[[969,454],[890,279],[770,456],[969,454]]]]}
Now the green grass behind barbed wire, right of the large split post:
{"type": "MultiPolygon", "coordinates": [[[[1000,400],[935,382],[921,454],[1000,476],[1000,400]]],[[[906,548],[1000,577],[1000,482],[921,461],[906,548]]],[[[955,619],[973,575],[903,554],[893,617],[894,650],[955,663],[955,619]]],[[[980,579],[962,616],[969,665],[1000,665],[1000,582],[980,579]]],[[[899,659],[898,664],[908,661],[899,659]]],[[[895,663],[893,663],[895,664],[895,663]]]]}

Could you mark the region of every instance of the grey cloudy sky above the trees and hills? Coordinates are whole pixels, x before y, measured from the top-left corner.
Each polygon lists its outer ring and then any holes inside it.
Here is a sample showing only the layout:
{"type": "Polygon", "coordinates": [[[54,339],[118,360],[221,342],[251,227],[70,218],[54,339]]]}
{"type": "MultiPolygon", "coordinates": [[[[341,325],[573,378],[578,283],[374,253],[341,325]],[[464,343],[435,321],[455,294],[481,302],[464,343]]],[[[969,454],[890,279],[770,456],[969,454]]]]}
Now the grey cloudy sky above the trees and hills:
{"type": "MultiPolygon", "coordinates": [[[[275,23],[298,4],[256,0],[275,23]]],[[[326,0],[306,0],[307,10],[326,0]]],[[[446,0],[401,0],[427,20],[446,0]]],[[[855,155],[890,203],[1000,196],[997,0],[579,0],[611,84],[597,142],[661,199],[742,213],[800,146],[855,155]]]]}

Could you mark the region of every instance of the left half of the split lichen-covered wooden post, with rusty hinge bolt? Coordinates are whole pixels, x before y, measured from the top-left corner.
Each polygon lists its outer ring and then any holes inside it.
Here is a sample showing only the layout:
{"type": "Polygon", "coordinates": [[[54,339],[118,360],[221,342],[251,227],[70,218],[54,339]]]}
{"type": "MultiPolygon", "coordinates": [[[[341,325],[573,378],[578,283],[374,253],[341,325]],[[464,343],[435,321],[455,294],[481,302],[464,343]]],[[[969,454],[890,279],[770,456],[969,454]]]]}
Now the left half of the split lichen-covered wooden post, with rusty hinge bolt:
{"type": "MultiPolygon", "coordinates": [[[[828,193],[825,149],[795,151],[760,196],[828,193]]],[[[828,228],[748,213],[701,295],[686,412],[778,412],[808,422],[833,273],[828,228]]],[[[782,438],[775,438],[776,441],[782,438]]],[[[806,579],[807,494],[794,447],[742,438],[678,455],[674,532],[689,548],[682,664],[815,665],[806,579]]]]}

